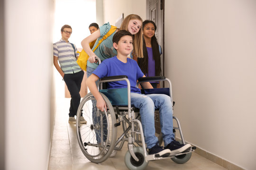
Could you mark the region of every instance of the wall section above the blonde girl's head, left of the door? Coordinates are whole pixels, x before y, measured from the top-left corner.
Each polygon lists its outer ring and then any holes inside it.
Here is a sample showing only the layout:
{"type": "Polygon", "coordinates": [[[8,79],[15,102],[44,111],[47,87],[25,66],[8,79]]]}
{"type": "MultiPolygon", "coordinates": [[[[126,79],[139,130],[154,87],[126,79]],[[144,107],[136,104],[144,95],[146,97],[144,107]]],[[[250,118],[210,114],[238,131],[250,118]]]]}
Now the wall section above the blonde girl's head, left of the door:
{"type": "Polygon", "coordinates": [[[124,13],[124,18],[129,14],[137,14],[146,19],[146,0],[103,0],[104,23],[115,25],[116,20],[124,13]]]}

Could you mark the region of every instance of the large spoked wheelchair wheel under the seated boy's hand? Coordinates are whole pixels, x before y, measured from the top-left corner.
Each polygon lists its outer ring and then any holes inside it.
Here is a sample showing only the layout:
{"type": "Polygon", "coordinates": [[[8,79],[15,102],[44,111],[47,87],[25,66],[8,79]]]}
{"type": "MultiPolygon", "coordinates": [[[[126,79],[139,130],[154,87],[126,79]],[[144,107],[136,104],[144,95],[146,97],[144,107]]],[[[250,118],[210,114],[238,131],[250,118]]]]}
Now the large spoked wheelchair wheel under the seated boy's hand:
{"type": "Polygon", "coordinates": [[[107,105],[107,110],[101,112],[96,107],[96,99],[88,93],[82,99],[77,111],[79,118],[83,113],[86,124],[76,121],[78,144],[85,157],[95,163],[105,161],[112,153],[117,136],[115,127],[116,116],[109,99],[101,93],[107,105]]]}

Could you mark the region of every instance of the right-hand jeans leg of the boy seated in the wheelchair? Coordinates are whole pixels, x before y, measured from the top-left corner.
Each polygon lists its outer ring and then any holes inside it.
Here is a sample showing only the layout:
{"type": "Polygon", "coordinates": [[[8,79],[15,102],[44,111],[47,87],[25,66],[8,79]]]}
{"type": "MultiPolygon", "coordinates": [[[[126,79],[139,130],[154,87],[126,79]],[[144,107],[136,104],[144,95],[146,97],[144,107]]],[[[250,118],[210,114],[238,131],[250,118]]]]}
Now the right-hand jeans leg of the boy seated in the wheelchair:
{"type": "Polygon", "coordinates": [[[171,98],[165,94],[148,94],[147,96],[154,101],[155,109],[159,109],[161,132],[166,146],[174,139],[171,98]]]}

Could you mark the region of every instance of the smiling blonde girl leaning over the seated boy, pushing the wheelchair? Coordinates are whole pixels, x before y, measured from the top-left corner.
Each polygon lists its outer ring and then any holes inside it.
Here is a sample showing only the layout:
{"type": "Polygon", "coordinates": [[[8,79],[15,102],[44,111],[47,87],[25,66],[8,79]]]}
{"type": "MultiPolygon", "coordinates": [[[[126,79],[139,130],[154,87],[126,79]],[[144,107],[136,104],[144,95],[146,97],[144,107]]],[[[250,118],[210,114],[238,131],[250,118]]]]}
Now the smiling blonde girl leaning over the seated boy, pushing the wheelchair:
{"type": "MultiPolygon", "coordinates": [[[[133,52],[131,53],[133,59],[137,60],[138,57],[143,57],[143,38],[142,38],[142,18],[139,17],[136,14],[130,14],[123,20],[120,30],[126,30],[130,32],[134,36],[134,42],[133,42],[133,52]]],[[[91,73],[98,67],[98,64],[96,64],[95,57],[99,57],[102,60],[111,58],[115,55],[117,55],[116,49],[113,47],[113,41],[112,38],[114,34],[119,31],[118,29],[111,34],[107,39],[105,39],[99,47],[93,52],[89,46],[89,43],[96,40],[96,43],[92,49],[95,48],[95,46],[98,44],[98,41],[101,40],[101,38],[106,35],[111,28],[111,25],[109,23],[104,24],[100,27],[99,30],[95,31],[88,37],[82,40],[82,48],[83,50],[89,55],[89,59],[87,61],[87,77],[91,75],[91,73]]]]}

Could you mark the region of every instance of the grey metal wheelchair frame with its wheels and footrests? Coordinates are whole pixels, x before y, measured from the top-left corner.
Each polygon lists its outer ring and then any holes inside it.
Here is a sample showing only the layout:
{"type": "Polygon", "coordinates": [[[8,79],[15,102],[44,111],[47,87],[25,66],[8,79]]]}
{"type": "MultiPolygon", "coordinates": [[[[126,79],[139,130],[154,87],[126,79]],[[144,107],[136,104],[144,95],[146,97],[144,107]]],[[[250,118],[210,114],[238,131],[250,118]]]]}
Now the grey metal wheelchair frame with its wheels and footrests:
{"type": "MultiPolygon", "coordinates": [[[[77,119],[77,121],[76,121],[77,139],[78,139],[78,143],[79,143],[79,146],[80,146],[83,154],[90,161],[95,162],[95,163],[100,163],[100,162],[105,161],[110,156],[110,154],[112,153],[113,150],[117,150],[117,151],[121,150],[124,142],[127,141],[128,142],[128,151],[125,154],[125,164],[129,169],[136,168],[136,169],[143,170],[146,168],[148,161],[166,159],[166,158],[171,158],[176,163],[185,163],[186,161],[188,161],[190,159],[191,154],[194,151],[195,147],[191,147],[189,150],[186,150],[183,153],[170,154],[168,157],[159,157],[158,155],[155,155],[155,154],[152,154],[152,155],[147,154],[144,134],[143,134],[143,130],[142,130],[143,129],[142,124],[138,120],[138,118],[140,116],[139,115],[136,116],[136,112],[137,112],[136,108],[131,107],[130,82],[128,80],[128,77],[127,76],[110,76],[110,77],[101,78],[98,83],[98,89],[99,90],[102,89],[102,83],[114,82],[114,81],[126,81],[127,82],[128,106],[127,107],[126,106],[116,106],[115,108],[113,108],[109,99],[104,94],[101,93],[103,99],[105,100],[105,102],[107,104],[108,109],[104,110],[103,113],[102,112],[99,113],[100,111],[97,110],[97,116],[101,117],[101,121],[99,121],[100,123],[98,122],[99,124],[97,124],[97,126],[95,125],[94,122],[91,123],[91,125],[87,125],[87,126],[89,127],[88,128],[89,131],[91,130],[91,132],[95,133],[95,134],[96,134],[96,127],[98,129],[100,129],[101,132],[99,134],[101,134],[101,140],[102,140],[103,139],[102,134],[104,134],[104,132],[103,132],[104,125],[102,125],[102,121],[103,121],[103,118],[106,117],[108,119],[107,120],[107,122],[108,122],[108,125],[107,125],[108,132],[107,133],[109,135],[106,137],[108,138],[107,142],[109,143],[109,137],[111,136],[111,143],[102,145],[102,144],[91,144],[90,142],[84,142],[84,140],[82,139],[83,134],[81,134],[81,131],[82,131],[81,127],[83,125],[80,124],[79,119],[77,119]],[[110,115],[110,117],[108,115],[110,115]],[[115,115],[115,116],[113,116],[113,115],[115,115]],[[116,123],[117,118],[118,118],[118,123],[116,123]],[[109,119],[111,119],[111,120],[109,120],[109,119]],[[111,125],[110,125],[110,122],[112,123],[111,125]],[[115,129],[117,129],[117,126],[119,126],[121,122],[122,122],[122,127],[123,127],[124,132],[116,140],[117,130],[115,130],[115,129]],[[128,124],[128,127],[127,127],[127,124],[128,124]],[[113,132],[111,134],[109,134],[109,132],[111,131],[110,130],[111,126],[112,126],[111,130],[113,130],[113,132]],[[94,132],[93,132],[93,130],[94,130],[94,132]],[[141,140],[139,140],[139,137],[141,140]],[[140,145],[140,143],[142,144],[142,146],[140,145]],[[135,146],[136,144],[138,144],[139,146],[138,147],[135,146]],[[92,153],[91,154],[88,153],[88,151],[90,150],[90,149],[88,150],[89,146],[95,147],[95,148],[99,147],[99,149],[100,149],[100,147],[102,147],[103,150],[105,150],[107,148],[107,150],[106,150],[106,153],[101,151],[100,153],[95,153],[96,155],[92,155],[92,153]],[[86,147],[88,147],[88,148],[86,148],[86,147]]],[[[137,86],[139,83],[149,82],[149,81],[167,81],[168,82],[171,103],[173,105],[172,108],[174,109],[171,81],[169,79],[165,78],[164,76],[142,77],[138,80],[137,86]]],[[[80,103],[78,111],[77,111],[77,117],[80,117],[81,112],[83,110],[84,103],[89,100],[93,100],[93,96],[91,93],[88,93],[82,99],[82,102],[80,103]]],[[[95,102],[95,99],[94,99],[94,102],[95,102]]],[[[91,102],[91,103],[94,104],[93,102],[91,102]]],[[[93,107],[95,107],[95,106],[92,106],[92,108],[93,107]]],[[[89,114],[92,114],[92,112],[90,112],[89,114]]],[[[176,120],[177,126],[178,126],[178,127],[174,127],[174,129],[179,130],[180,136],[182,139],[182,143],[185,144],[180,121],[175,116],[173,116],[173,119],[176,120]]],[[[158,136],[158,140],[160,141],[160,143],[162,143],[161,138],[162,138],[162,135],[160,134],[158,136]]]]}

